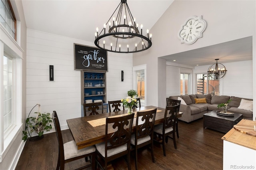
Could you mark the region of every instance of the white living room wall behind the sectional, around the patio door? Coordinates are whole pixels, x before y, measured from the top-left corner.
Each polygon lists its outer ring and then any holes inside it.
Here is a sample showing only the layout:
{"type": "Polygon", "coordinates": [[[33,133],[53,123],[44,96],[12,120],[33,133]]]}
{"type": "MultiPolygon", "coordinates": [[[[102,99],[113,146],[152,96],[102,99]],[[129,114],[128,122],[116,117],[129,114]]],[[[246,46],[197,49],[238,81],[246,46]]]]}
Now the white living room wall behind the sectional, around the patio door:
{"type": "MultiPolygon", "coordinates": [[[[253,99],[252,61],[222,64],[228,71],[226,75],[220,79],[220,95],[253,99]]],[[[210,65],[196,66],[194,74],[207,73],[209,67],[210,65]]]]}

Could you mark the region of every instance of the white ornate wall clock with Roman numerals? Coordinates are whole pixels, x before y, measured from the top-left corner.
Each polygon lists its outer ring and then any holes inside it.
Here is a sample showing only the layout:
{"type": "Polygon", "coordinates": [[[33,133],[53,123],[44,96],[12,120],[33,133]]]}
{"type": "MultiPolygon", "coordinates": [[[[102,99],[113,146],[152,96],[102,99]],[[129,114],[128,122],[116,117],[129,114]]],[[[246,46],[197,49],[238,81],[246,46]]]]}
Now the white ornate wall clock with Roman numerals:
{"type": "Polygon", "coordinates": [[[206,22],[202,20],[202,16],[192,16],[186,20],[185,24],[181,26],[178,36],[181,43],[188,45],[196,42],[198,38],[203,37],[202,33],[206,28],[206,22]]]}

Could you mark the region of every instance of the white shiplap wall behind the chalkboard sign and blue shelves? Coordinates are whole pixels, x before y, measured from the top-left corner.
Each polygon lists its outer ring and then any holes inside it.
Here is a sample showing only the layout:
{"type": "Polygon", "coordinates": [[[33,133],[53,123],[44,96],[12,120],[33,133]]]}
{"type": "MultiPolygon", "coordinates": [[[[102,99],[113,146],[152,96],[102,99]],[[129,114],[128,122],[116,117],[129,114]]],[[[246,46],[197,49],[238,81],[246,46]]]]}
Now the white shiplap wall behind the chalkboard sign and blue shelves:
{"type": "MultiPolygon", "coordinates": [[[[74,43],[94,46],[91,42],[27,30],[27,116],[40,103],[42,112],[57,112],[62,129],[68,128],[66,119],[81,116],[81,73],[74,70],[74,43]],[[54,81],[49,81],[49,65],[54,65],[54,81]]],[[[107,101],[126,97],[132,89],[132,55],[108,52],[106,77],[107,101]]]]}

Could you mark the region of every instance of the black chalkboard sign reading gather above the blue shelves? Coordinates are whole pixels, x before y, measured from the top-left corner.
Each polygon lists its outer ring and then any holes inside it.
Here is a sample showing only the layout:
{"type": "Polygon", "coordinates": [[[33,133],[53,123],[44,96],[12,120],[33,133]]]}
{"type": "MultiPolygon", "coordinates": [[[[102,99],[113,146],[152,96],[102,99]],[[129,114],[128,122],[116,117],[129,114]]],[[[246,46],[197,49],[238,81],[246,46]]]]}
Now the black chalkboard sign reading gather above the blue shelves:
{"type": "Polygon", "coordinates": [[[74,43],[75,70],[108,71],[107,51],[74,43]]]}

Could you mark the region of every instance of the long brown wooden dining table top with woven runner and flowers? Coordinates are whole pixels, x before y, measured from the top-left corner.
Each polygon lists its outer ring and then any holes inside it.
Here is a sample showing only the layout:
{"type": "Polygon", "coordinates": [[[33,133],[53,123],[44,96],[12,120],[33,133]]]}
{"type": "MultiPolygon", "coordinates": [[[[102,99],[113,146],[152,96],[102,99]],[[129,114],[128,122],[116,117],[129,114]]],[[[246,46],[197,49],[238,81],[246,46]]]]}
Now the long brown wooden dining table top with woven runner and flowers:
{"type": "MultiPolygon", "coordinates": [[[[155,109],[155,108],[157,109],[155,125],[158,125],[162,123],[162,121],[164,120],[164,112],[165,112],[164,108],[155,107],[155,106],[145,106],[145,107],[133,109],[133,112],[136,113],[137,111],[145,111],[148,109],[155,109]]],[[[93,127],[90,124],[90,121],[117,116],[117,115],[123,115],[126,113],[127,113],[127,110],[124,110],[124,111],[122,110],[117,112],[110,112],[110,113],[103,113],[99,115],[91,115],[87,117],[78,117],[74,119],[68,119],[67,120],[68,127],[70,128],[70,131],[72,133],[74,141],[76,142],[78,150],[103,142],[105,140],[106,125],[104,124],[97,127],[93,127]]],[[[182,116],[182,113],[179,113],[177,117],[181,117],[181,116],[182,116]]],[[[134,117],[133,124],[132,124],[132,131],[135,130],[135,126],[136,126],[136,118],[134,117]]]]}

